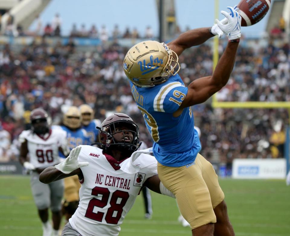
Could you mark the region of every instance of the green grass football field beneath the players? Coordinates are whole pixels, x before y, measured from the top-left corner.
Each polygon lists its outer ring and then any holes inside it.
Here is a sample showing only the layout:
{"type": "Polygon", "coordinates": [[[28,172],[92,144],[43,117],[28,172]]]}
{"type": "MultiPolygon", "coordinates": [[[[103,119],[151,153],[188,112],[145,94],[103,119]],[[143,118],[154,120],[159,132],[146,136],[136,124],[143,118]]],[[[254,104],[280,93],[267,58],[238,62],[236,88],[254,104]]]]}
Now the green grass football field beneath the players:
{"type": "MultiPolygon", "coordinates": [[[[290,187],[284,180],[221,179],[237,236],[289,236],[290,187]]],[[[0,235],[41,236],[28,176],[0,176],[0,235]]],[[[152,193],[153,218],[143,219],[142,197],[128,213],[120,236],[191,235],[178,222],[176,202],[152,193]]],[[[85,236],[85,235],[84,235],[85,236]]]]}

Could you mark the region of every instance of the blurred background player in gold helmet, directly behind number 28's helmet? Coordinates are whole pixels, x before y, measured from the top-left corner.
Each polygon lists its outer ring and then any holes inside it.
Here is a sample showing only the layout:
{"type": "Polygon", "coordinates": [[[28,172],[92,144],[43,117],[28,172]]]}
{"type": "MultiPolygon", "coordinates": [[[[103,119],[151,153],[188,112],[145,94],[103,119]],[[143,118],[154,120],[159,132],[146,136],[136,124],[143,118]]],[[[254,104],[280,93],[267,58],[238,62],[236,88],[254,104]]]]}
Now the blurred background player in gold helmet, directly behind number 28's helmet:
{"type": "Polygon", "coordinates": [[[90,137],[90,144],[97,142],[99,131],[96,127],[101,126],[101,121],[94,119],[94,111],[89,105],[82,104],[79,106],[79,110],[82,114],[82,128],[90,137]]]}

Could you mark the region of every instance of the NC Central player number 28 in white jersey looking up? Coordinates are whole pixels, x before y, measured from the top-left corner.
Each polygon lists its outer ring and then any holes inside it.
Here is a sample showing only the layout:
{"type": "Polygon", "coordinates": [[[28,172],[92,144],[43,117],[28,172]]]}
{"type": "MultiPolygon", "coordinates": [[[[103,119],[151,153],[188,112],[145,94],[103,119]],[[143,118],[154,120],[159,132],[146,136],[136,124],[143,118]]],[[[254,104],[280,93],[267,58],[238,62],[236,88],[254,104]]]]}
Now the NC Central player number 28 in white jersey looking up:
{"type": "MultiPolygon", "coordinates": [[[[101,124],[99,147],[81,145],[59,165],[43,171],[40,181],[51,183],[77,174],[82,183],[79,207],[63,236],[116,236],[140,189],[147,186],[174,197],[157,175],[157,161],[139,150],[139,128],[127,115],[115,113],[101,124]]],[[[151,150],[150,150],[151,149],[151,150]]]]}

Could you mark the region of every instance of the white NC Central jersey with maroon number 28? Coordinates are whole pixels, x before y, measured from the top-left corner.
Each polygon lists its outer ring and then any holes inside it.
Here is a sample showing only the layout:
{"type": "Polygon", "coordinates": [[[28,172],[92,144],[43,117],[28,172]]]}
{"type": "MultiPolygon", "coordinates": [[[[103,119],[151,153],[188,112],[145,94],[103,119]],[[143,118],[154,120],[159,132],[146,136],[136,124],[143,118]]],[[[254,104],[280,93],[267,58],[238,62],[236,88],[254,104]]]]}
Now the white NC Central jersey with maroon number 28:
{"type": "Polygon", "coordinates": [[[148,154],[138,154],[134,161],[138,172],[129,174],[120,166],[131,166],[134,154],[120,163],[102,154],[98,147],[81,147],[79,161],[87,161],[89,165],[81,167],[84,180],[79,190],[79,207],[69,223],[86,236],[118,235],[143,183],[157,175],[157,161],[148,154]]]}

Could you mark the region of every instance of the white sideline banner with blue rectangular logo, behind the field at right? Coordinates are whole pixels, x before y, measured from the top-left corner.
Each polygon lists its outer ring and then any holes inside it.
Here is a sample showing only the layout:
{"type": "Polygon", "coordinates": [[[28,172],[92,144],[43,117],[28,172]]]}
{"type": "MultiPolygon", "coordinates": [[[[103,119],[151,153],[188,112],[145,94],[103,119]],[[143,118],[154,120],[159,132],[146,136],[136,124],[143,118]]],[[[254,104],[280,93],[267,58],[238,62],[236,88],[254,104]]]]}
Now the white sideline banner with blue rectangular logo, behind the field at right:
{"type": "Polygon", "coordinates": [[[234,159],[234,179],[285,179],[286,160],[281,159],[234,159]]]}

